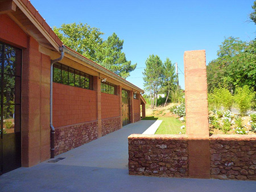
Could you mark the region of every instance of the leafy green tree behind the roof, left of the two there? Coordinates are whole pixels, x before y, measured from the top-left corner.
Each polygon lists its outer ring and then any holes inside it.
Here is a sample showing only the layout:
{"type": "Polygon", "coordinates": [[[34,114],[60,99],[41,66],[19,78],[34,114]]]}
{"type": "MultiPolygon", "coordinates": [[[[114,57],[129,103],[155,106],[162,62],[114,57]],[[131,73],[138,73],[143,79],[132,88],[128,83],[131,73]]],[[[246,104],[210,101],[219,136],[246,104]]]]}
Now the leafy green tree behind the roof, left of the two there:
{"type": "Polygon", "coordinates": [[[90,60],[97,61],[96,52],[102,49],[103,32],[88,24],[62,24],[60,28],[53,27],[65,45],[84,55],[90,60]]]}

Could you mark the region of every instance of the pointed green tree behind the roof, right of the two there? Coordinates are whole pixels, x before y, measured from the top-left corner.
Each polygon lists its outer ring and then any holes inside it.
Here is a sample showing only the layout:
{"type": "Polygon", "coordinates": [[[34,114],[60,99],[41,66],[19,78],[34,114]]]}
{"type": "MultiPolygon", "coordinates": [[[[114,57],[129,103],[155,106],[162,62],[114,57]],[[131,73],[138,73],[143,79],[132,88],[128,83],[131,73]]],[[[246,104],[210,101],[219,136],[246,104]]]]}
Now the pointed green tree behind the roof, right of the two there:
{"type": "Polygon", "coordinates": [[[97,51],[97,60],[106,69],[118,74],[123,78],[130,76],[137,64],[131,65],[131,61],[127,61],[125,53],[122,52],[123,40],[113,33],[102,44],[102,49],[97,51]]]}

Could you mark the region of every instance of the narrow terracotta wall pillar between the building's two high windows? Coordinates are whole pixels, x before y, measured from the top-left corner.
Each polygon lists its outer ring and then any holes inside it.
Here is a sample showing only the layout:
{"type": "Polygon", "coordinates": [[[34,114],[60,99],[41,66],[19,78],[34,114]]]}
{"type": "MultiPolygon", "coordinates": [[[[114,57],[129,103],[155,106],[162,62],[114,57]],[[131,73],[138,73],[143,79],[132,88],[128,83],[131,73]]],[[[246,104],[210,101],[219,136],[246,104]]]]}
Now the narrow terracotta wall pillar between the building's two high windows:
{"type": "Polygon", "coordinates": [[[102,136],[101,127],[101,80],[98,76],[93,77],[93,90],[97,91],[97,119],[98,119],[98,137],[102,136]]]}

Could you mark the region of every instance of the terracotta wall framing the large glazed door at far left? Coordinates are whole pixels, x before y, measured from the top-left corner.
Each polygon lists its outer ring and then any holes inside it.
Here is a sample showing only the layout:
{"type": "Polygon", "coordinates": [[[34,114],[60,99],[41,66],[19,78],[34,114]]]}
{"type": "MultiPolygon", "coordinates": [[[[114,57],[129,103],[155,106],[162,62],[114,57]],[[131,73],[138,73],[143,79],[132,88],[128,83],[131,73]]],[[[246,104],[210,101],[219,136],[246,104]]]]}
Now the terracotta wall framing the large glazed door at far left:
{"type": "Polygon", "coordinates": [[[48,56],[39,44],[7,15],[0,15],[0,41],[22,49],[22,166],[32,166],[50,156],[48,56]]]}

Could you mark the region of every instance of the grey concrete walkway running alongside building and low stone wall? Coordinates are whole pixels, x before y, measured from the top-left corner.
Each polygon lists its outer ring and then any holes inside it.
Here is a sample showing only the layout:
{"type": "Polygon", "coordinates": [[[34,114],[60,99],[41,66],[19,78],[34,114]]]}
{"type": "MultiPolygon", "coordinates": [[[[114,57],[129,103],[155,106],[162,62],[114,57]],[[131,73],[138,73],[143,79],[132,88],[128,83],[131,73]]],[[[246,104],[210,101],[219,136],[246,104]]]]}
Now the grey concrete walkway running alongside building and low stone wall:
{"type": "Polygon", "coordinates": [[[142,133],[143,120],[43,162],[0,176],[0,191],[255,191],[255,181],[129,176],[127,136],[142,133]]]}

